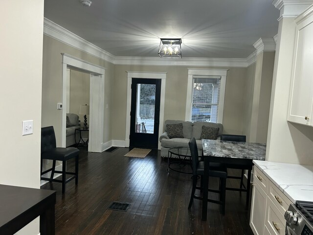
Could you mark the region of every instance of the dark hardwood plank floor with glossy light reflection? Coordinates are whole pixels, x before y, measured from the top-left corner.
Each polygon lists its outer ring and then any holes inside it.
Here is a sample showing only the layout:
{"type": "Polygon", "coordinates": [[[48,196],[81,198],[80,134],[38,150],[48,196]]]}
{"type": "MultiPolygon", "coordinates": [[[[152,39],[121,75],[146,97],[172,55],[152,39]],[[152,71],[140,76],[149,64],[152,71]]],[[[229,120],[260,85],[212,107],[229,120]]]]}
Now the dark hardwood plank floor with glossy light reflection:
{"type": "MultiPolygon", "coordinates": [[[[188,211],[191,175],[167,173],[167,161],[152,150],[144,159],[124,155],[129,148],[88,153],[80,148],[79,182],[71,181],[62,195],[60,183],[44,189],[57,191],[55,231],[57,235],[252,235],[246,193],[226,191],[225,215],[220,206],[208,204],[208,219],[201,221],[201,201],[188,211]],[[131,203],[127,212],[112,211],[113,201],[131,203]]],[[[190,166],[185,166],[190,167],[190,166]]],[[[74,169],[74,162],[67,164],[74,169]]],[[[231,174],[240,175],[233,170],[231,174]]],[[[227,180],[227,186],[239,186],[227,180]]],[[[217,179],[210,178],[217,186],[217,179]]],[[[213,193],[210,197],[217,197],[213,193]]]]}

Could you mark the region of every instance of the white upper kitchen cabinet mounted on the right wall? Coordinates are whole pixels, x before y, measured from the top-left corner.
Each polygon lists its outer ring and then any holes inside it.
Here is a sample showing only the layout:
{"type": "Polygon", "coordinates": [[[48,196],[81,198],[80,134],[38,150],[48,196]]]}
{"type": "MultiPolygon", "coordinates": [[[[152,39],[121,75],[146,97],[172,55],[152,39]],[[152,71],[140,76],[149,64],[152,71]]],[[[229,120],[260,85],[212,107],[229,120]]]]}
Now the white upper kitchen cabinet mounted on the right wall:
{"type": "Polygon", "coordinates": [[[288,121],[313,126],[313,6],[296,18],[288,121]]]}

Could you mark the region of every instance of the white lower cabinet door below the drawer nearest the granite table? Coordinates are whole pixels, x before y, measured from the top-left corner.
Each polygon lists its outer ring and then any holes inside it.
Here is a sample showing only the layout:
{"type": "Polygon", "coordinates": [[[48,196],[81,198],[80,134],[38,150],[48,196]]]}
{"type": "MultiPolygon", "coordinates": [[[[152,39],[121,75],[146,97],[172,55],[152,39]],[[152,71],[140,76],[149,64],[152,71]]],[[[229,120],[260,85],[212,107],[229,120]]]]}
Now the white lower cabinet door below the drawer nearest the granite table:
{"type": "Polygon", "coordinates": [[[267,195],[257,184],[253,184],[250,213],[250,227],[254,235],[263,235],[265,225],[265,205],[267,195]]]}

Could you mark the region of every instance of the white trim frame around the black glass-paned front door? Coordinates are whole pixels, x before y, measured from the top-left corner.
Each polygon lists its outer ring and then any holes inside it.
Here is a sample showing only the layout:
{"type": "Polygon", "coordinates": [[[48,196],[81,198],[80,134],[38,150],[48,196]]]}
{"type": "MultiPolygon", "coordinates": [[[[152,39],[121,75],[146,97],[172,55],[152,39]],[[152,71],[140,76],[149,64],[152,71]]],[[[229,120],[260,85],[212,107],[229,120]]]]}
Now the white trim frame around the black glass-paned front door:
{"type": "MultiPolygon", "coordinates": [[[[131,103],[132,103],[132,78],[161,79],[161,97],[160,97],[160,116],[158,135],[163,133],[164,124],[164,105],[165,105],[165,81],[167,72],[142,72],[142,71],[126,71],[127,72],[127,103],[126,103],[126,131],[125,131],[125,147],[129,147],[129,135],[131,128],[131,103]]],[[[158,142],[158,149],[160,149],[158,142]]]]}

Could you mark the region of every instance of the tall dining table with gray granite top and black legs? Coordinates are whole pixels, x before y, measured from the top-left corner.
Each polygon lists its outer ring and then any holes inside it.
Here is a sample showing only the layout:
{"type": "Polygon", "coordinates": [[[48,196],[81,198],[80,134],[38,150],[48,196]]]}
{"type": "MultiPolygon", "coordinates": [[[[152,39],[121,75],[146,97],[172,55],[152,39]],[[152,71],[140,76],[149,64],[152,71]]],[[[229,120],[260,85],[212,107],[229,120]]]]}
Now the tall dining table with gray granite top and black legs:
{"type": "MultiPolygon", "coordinates": [[[[250,181],[253,160],[265,160],[266,144],[254,142],[202,140],[202,158],[204,160],[202,220],[207,218],[207,197],[209,164],[221,163],[238,165],[247,170],[247,184],[244,188],[226,188],[226,190],[246,191],[246,208],[250,195],[250,181]]],[[[227,200],[227,198],[226,198],[227,200]]]]}

